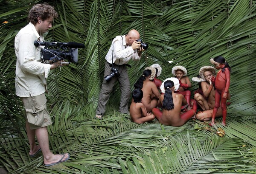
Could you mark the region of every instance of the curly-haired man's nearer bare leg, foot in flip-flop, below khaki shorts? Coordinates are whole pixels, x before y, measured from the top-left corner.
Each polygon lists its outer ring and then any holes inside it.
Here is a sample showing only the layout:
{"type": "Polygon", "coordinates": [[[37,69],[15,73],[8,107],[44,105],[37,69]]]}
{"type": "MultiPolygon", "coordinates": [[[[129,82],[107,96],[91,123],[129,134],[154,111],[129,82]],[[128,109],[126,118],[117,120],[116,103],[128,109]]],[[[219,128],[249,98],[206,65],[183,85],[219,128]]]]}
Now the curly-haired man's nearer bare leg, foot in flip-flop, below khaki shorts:
{"type": "MultiPolygon", "coordinates": [[[[57,163],[63,155],[61,154],[52,154],[52,152],[49,149],[49,138],[48,138],[48,131],[47,127],[41,127],[38,129],[35,129],[35,135],[38,139],[39,146],[41,147],[41,150],[44,155],[44,164],[51,164],[51,163],[57,163]]],[[[65,157],[61,160],[64,161],[69,157],[69,154],[66,153],[65,157]]]]}

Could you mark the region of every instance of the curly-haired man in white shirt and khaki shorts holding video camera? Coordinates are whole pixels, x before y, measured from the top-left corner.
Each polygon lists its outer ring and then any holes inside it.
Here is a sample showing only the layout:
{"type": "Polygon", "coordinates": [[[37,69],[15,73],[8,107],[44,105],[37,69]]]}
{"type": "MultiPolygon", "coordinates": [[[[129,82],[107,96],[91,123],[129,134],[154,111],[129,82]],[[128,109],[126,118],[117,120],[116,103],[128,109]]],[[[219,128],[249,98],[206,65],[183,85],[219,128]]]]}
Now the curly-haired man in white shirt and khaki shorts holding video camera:
{"type": "Polygon", "coordinates": [[[70,157],[66,154],[52,154],[49,149],[47,126],[52,124],[47,111],[46,79],[51,69],[60,67],[61,61],[53,64],[41,63],[41,49],[34,41],[44,41],[43,34],[52,27],[52,21],[58,17],[57,12],[48,4],[36,4],[28,15],[29,24],[22,28],[15,37],[15,54],[17,56],[15,88],[26,109],[26,131],[29,140],[29,156],[34,157],[42,151],[44,166],[52,166],[70,157]],[[37,137],[39,145],[35,143],[37,137]]]}

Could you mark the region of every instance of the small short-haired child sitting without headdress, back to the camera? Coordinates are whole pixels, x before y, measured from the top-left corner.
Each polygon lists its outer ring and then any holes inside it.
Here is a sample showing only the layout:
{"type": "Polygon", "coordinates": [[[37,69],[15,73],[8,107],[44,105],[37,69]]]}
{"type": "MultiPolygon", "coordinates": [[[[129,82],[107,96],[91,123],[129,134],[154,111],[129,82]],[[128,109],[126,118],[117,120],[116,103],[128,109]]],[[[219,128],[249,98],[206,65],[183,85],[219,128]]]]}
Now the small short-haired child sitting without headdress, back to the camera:
{"type": "Polygon", "coordinates": [[[145,105],[141,102],[143,98],[143,91],[135,89],[132,92],[133,101],[130,106],[131,120],[135,123],[145,123],[154,119],[152,113],[147,112],[145,105]]]}

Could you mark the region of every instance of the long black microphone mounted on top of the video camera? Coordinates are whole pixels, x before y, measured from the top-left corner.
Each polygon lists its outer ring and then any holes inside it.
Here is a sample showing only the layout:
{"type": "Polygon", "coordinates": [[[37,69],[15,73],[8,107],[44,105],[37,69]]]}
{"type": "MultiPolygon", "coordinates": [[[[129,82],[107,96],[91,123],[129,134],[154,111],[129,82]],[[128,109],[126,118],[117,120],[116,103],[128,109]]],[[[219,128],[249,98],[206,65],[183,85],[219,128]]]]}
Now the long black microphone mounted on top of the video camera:
{"type": "Polygon", "coordinates": [[[84,48],[84,44],[82,43],[77,43],[77,42],[39,42],[38,40],[35,40],[34,45],[38,47],[39,45],[41,46],[57,46],[57,45],[64,45],[69,48],[84,48]]]}

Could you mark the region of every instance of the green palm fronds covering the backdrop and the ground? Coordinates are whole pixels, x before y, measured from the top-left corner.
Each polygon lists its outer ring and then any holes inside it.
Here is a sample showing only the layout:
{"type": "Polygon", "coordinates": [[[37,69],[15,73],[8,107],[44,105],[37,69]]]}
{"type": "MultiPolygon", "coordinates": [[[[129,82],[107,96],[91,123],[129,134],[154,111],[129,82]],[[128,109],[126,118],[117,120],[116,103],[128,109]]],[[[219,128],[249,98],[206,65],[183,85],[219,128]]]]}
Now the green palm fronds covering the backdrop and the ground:
{"type": "Polygon", "coordinates": [[[0,166],[11,173],[256,173],[256,1],[48,0],[59,17],[46,40],[85,44],[77,64],[53,70],[47,79],[49,146],[71,155],[52,167],[41,165],[41,155],[29,157],[24,109],[15,95],[14,38],[29,9],[43,2],[0,1],[0,22],[8,21],[0,26],[0,166]],[[161,80],[175,65],[186,67],[191,79],[210,58],[226,58],[231,105],[227,126],[217,123],[223,138],[199,121],[181,127],[132,123],[117,112],[118,85],[104,119],[93,119],[105,54],[115,36],[132,28],[149,48],[139,62],[130,62],[131,87],[153,63],[163,68],[161,80]]]}

